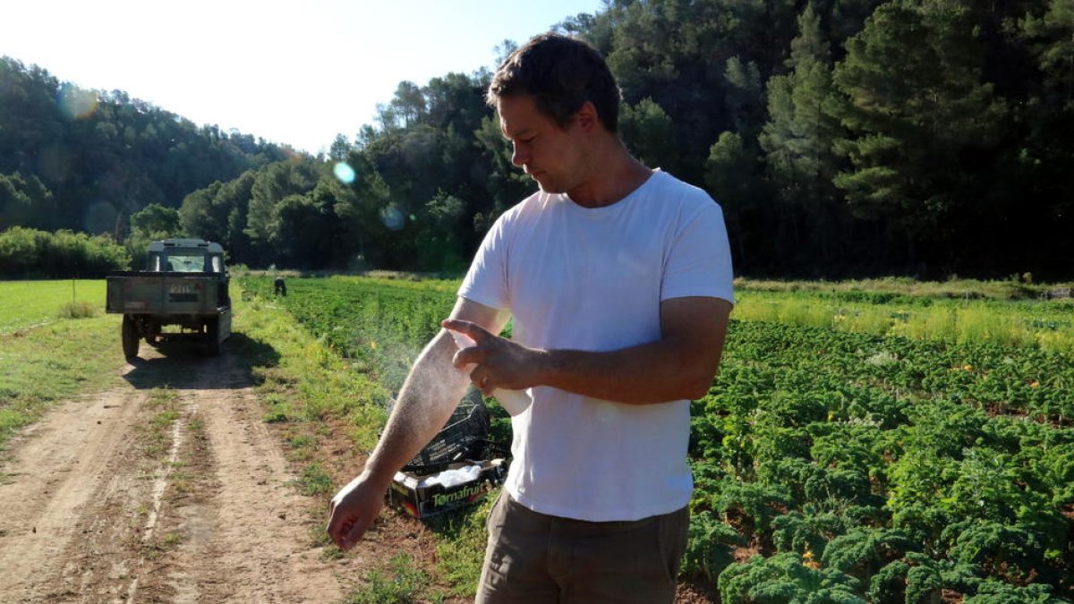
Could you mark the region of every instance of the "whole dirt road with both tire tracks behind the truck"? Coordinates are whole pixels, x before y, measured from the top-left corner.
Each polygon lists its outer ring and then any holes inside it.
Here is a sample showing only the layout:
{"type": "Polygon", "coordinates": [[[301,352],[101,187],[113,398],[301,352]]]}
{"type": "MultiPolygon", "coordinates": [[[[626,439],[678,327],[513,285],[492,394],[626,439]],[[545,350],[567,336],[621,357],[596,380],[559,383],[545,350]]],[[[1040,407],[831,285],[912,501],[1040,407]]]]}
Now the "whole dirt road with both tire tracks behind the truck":
{"type": "Polygon", "coordinates": [[[164,353],[2,454],[0,602],[343,599],[362,555],[322,556],[241,358],[164,353]]]}

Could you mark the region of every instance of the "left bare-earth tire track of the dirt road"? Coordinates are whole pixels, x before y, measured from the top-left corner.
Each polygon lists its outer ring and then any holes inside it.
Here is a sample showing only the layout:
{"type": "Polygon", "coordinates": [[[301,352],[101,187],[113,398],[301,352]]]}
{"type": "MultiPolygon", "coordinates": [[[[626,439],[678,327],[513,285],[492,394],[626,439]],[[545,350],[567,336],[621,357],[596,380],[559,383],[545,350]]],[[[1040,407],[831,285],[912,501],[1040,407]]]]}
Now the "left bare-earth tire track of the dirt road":
{"type": "MultiPolygon", "coordinates": [[[[110,501],[141,499],[139,480],[125,460],[137,459],[128,433],[144,413],[146,396],[111,391],[61,405],[13,443],[17,457],[0,486],[0,601],[58,599],[69,590],[60,577],[86,555],[100,555],[93,537],[111,533],[110,501]],[[88,538],[87,538],[88,537],[88,538]],[[74,547],[76,543],[83,547],[74,547]],[[82,550],[75,560],[67,552],[82,550]]],[[[142,480],[144,481],[144,480],[142,480]]],[[[122,547],[121,543],[116,544],[122,547]]],[[[77,573],[75,573],[77,574],[77,573]]]]}

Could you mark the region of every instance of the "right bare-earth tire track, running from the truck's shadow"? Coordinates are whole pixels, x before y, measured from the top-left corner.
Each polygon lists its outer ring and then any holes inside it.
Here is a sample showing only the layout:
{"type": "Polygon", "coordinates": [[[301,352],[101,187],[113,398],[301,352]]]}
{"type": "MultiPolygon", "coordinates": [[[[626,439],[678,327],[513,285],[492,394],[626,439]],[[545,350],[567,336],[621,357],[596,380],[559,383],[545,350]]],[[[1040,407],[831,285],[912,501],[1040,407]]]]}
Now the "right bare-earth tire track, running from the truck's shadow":
{"type": "Polygon", "coordinates": [[[164,522],[190,537],[169,560],[173,601],[338,601],[339,581],[303,521],[309,499],[291,485],[295,476],[248,379],[232,359],[221,361],[193,385],[214,492],[164,522]]]}

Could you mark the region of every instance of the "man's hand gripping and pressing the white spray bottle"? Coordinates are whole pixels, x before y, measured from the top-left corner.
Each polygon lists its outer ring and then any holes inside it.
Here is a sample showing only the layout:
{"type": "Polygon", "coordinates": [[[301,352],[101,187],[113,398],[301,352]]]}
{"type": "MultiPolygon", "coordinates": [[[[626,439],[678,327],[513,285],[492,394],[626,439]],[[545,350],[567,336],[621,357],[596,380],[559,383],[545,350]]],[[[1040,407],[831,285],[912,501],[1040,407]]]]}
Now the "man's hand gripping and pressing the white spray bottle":
{"type": "Polygon", "coordinates": [[[446,319],[444,329],[469,336],[475,345],[455,353],[453,363],[463,369],[475,365],[470,382],[484,396],[496,389],[521,390],[537,385],[541,351],[526,348],[510,340],[493,335],[477,323],[462,319],[446,319]]]}

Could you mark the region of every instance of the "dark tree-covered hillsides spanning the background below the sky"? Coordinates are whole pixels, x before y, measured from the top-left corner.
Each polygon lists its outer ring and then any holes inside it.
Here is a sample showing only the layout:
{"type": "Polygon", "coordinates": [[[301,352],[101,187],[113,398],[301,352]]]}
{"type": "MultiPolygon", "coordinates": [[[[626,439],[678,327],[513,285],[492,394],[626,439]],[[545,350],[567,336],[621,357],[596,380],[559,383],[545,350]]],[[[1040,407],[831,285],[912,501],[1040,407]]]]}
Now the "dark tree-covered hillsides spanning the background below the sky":
{"type": "MultiPolygon", "coordinates": [[[[1070,274],[1074,0],[614,0],[556,29],[607,58],[632,153],[721,202],[744,274],[1070,274]]],[[[288,222],[331,218],[330,264],[426,269],[450,215],[468,258],[536,189],[491,75],[401,82],[310,158],[0,58],[0,228],[112,231],[156,203],[265,265],[324,262],[288,222]]]]}

